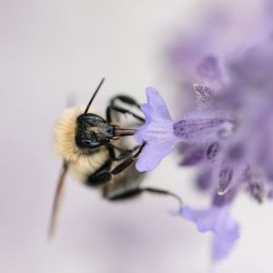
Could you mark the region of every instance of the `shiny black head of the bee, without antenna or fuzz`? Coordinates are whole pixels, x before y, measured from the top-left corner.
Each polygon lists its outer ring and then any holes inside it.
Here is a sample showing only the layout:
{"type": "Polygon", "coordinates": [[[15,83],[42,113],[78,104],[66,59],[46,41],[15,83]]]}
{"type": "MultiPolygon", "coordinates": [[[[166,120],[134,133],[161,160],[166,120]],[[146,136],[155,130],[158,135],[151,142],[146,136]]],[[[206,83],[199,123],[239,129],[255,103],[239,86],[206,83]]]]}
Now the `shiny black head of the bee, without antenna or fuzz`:
{"type": "Polygon", "coordinates": [[[81,149],[94,149],[106,145],[115,136],[115,126],[101,116],[83,114],[76,119],[76,146],[81,149]]]}

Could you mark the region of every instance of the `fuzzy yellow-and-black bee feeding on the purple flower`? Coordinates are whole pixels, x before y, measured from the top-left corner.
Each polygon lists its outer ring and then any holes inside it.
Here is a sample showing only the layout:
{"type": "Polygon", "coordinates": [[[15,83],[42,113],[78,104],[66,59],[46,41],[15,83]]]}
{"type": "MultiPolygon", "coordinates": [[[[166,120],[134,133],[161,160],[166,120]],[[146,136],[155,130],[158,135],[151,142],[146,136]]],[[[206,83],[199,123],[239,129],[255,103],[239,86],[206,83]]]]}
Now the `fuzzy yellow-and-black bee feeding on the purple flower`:
{"type": "Polygon", "coordinates": [[[136,115],[125,106],[140,110],[136,100],[129,96],[115,96],[106,107],[106,118],[89,110],[105,78],[96,87],[86,108],[72,107],[64,111],[54,129],[54,148],[63,158],[63,165],[57,181],[49,236],[54,234],[56,217],[65,177],[69,171],[88,187],[99,187],[107,200],[115,201],[135,197],[143,192],[173,196],[177,195],[154,187],[140,187],[145,173],[136,170],[135,163],[145,144],[126,147],[125,136],[133,136],[136,128],[125,128],[118,124],[118,115],[129,115],[137,126],[145,123],[145,118],[136,115]],[[115,121],[114,121],[115,120],[115,121]]]}

